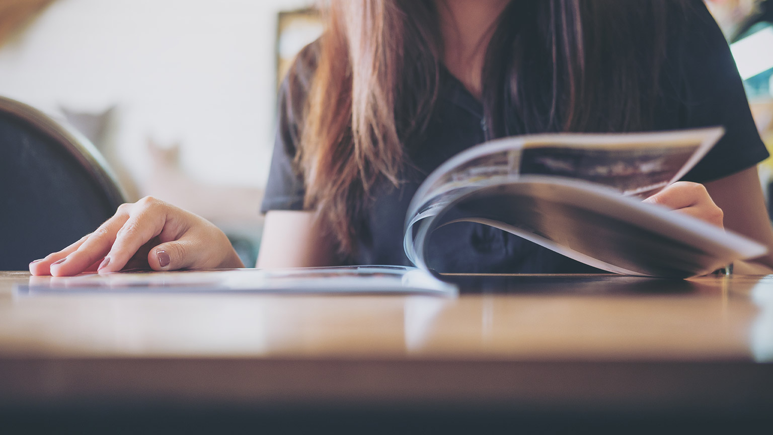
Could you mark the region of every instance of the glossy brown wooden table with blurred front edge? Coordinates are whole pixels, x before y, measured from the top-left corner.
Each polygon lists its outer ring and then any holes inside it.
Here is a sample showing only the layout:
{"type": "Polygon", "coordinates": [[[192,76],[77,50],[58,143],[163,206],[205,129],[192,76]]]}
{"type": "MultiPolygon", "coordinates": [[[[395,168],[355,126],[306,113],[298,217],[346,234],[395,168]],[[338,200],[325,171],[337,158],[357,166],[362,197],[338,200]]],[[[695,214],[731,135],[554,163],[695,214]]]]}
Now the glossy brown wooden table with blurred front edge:
{"type": "Polygon", "coordinates": [[[458,298],[24,296],[14,284],[29,275],[0,272],[0,419],[95,432],[150,418],[339,433],[773,427],[773,276],[451,279],[458,298]]]}

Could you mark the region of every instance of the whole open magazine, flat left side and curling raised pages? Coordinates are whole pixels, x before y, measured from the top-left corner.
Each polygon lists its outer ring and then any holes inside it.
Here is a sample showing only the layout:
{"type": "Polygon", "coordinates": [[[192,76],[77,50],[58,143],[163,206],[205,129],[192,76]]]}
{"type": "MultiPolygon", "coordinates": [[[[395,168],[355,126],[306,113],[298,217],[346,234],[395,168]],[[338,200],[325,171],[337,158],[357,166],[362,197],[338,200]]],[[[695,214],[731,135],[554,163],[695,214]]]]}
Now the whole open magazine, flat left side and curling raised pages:
{"type": "Polygon", "coordinates": [[[32,277],[20,294],[237,292],[417,293],[454,296],[427,267],[433,231],[478,222],[570,258],[625,275],[686,278],[763,245],[685,214],[641,202],[679,180],[723,128],[627,134],[554,134],[498,139],[448,160],[408,207],[404,248],[417,267],[240,269],[32,277]]]}

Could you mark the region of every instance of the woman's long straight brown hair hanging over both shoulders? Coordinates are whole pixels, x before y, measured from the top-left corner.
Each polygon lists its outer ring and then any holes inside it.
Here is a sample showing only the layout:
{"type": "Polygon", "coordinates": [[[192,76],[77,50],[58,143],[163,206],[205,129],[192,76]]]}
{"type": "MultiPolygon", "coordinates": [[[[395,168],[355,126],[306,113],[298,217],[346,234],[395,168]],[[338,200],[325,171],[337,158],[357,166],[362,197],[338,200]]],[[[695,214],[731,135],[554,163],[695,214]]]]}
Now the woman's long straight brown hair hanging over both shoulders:
{"type": "MultiPolygon", "coordinates": [[[[510,2],[486,50],[487,137],[652,128],[676,3],[510,2]]],[[[296,162],[305,207],[346,256],[373,185],[400,183],[404,144],[430,121],[443,41],[433,0],[326,0],[321,10],[296,162]]]]}

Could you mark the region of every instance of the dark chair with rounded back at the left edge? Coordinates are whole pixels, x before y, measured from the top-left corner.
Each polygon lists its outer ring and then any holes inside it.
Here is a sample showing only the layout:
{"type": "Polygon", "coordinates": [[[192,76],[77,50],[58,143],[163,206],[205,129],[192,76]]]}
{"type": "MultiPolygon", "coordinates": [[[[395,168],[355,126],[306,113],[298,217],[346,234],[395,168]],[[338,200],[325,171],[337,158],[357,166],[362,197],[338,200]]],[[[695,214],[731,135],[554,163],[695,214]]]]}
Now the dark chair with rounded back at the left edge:
{"type": "Polygon", "coordinates": [[[26,270],[94,231],[123,202],[87,139],[0,97],[0,270],[26,270]]]}

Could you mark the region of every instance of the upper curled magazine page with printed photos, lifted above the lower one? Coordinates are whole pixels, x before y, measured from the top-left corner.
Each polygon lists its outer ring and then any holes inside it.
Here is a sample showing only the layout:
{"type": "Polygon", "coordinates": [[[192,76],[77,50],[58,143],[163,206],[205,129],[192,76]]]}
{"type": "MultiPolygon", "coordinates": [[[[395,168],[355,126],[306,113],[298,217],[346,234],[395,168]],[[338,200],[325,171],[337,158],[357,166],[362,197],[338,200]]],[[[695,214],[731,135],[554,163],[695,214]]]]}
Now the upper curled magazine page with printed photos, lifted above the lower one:
{"type": "MultiPolygon", "coordinates": [[[[489,187],[520,183],[525,176],[582,181],[591,188],[615,190],[614,196],[655,194],[683,177],[722,135],[724,128],[713,127],[525,135],[485,142],[449,159],[418,188],[407,211],[404,250],[414,265],[426,267],[422,258],[424,241],[431,232],[429,228],[435,228],[427,221],[444,214],[461,197],[475,196],[475,192],[489,187]]],[[[482,217],[474,214],[470,218],[482,217]]],[[[559,245],[553,245],[558,251],[559,245]]]]}

